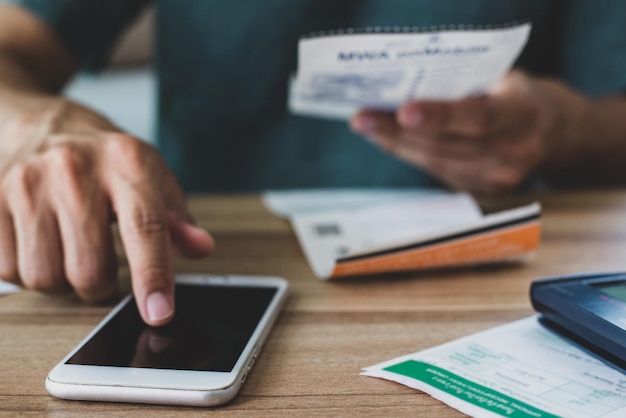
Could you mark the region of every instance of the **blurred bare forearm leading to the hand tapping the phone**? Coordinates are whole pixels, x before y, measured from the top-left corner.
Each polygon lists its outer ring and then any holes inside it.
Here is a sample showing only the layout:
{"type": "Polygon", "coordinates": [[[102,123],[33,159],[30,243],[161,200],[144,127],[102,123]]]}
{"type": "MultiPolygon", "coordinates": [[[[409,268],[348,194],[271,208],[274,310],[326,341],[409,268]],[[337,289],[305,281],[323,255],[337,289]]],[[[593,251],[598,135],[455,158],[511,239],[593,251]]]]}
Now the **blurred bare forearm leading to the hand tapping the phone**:
{"type": "Polygon", "coordinates": [[[0,174],[56,130],[66,112],[65,101],[55,95],[76,69],[42,22],[0,4],[0,174]]]}

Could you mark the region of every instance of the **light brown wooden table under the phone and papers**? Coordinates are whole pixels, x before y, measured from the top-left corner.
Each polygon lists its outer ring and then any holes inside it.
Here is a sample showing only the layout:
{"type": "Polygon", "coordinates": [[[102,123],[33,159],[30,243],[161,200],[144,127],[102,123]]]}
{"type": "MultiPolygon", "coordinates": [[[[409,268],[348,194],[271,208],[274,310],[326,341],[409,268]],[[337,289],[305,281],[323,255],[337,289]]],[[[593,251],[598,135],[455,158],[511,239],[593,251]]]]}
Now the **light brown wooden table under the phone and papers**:
{"type": "Polygon", "coordinates": [[[532,314],[533,279],[626,269],[626,190],[487,203],[511,206],[535,199],[544,207],[544,234],[539,252],[526,264],[328,283],[311,273],[289,224],[270,215],[257,197],[195,197],[192,210],[213,232],[217,250],[204,261],[176,261],[178,271],[278,275],[288,278],[293,290],[235,400],[207,410],[52,398],[44,388],[48,371],[110,306],[25,291],[0,297],[0,413],[461,416],[424,393],[359,371],[532,314]]]}

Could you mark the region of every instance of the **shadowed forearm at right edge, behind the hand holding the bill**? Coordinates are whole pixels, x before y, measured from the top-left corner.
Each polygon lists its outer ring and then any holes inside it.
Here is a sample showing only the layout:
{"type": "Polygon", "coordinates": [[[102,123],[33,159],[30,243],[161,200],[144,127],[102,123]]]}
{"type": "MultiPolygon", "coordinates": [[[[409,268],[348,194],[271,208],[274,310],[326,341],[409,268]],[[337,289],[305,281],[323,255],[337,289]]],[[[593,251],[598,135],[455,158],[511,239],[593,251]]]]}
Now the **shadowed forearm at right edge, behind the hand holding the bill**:
{"type": "Polygon", "coordinates": [[[552,120],[540,174],[554,184],[626,184],[626,96],[588,99],[539,80],[552,120]]]}

